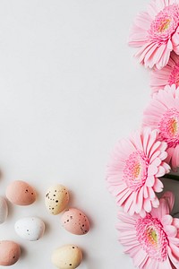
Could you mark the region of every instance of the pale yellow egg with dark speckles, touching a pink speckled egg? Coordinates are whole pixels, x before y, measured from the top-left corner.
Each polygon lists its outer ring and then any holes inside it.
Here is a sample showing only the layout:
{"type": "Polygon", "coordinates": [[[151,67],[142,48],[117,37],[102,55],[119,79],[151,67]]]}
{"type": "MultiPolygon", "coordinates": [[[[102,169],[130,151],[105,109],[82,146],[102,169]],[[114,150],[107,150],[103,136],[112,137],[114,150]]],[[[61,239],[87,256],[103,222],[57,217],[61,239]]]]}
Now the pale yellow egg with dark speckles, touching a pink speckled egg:
{"type": "Polygon", "coordinates": [[[53,215],[61,213],[69,202],[69,193],[63,185],[54,185],[47,189],[45,204],[47,212],[53,215]]]}

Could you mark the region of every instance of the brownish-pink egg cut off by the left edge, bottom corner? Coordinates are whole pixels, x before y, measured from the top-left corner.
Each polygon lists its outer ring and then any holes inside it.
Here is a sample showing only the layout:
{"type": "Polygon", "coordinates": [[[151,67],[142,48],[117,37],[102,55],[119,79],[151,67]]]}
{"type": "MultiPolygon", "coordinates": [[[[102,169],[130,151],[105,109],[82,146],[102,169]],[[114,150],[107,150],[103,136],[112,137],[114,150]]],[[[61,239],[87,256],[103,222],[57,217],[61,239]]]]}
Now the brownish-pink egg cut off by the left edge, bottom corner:
{"type": "Polygon", "coordinates": [[[0,241],[0,265],[14,265],[21,256],[20,246],[13,241],[0,241]]]}

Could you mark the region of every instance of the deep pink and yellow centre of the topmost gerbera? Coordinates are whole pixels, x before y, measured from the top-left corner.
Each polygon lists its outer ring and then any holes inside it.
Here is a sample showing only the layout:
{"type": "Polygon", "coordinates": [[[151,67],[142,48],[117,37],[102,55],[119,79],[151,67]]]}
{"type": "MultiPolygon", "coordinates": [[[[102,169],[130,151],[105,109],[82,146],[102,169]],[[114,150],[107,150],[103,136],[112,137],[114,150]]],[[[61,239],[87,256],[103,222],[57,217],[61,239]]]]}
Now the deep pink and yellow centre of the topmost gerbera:
{"type": "Polygon", "coordinates": [[[179,25],[179,6],[171,4],[160,11],[149,28],[149,40],[166,44],[179,25]]]}

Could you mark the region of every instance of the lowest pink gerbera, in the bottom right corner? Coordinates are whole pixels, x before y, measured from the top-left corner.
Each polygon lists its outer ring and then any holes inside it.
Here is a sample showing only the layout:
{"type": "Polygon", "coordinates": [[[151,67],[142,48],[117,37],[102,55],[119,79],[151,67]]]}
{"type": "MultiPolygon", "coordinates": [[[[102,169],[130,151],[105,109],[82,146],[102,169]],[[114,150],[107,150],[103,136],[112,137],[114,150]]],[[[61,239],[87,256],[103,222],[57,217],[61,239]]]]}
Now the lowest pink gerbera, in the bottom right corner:
{"type": "Polygon", "coordinates": [[[158,208],[144,218],[139,214],[118,214],[119,241],[140,269],[179,268],[179,220],[169,214],[174,195],[167,192],[159,202],[158,208]]]}

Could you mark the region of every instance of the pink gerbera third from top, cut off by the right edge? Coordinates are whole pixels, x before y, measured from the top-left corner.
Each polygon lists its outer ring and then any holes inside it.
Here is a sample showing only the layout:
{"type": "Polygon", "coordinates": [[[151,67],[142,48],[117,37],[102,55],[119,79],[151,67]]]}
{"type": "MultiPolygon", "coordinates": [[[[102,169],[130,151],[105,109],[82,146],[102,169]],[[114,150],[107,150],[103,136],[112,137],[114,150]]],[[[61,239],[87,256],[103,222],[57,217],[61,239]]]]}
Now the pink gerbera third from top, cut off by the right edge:
{"type": "Polygon", "coordinates": [[[166,162],[179,167],[179,88],[166,86],[154,94],[144,110],[143,126],[159,130],[159,140],[167,143],[166,162]]]}

